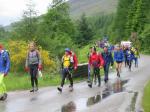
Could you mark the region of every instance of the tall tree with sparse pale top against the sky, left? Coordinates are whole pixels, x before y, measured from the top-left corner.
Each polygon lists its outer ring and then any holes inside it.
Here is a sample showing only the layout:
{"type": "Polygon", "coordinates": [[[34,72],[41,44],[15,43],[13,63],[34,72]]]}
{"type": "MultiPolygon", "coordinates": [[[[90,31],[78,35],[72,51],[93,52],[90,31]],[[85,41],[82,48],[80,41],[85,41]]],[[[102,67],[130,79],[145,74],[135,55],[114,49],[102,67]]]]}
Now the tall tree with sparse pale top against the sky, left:
{"type": "Polygon", "coordinates": [[[32,0],[29,0],[26,4],[27,9],[23,12],[23,18],[21,21],[13,23],[13,34],[16,38],[24,40],[33,40],[36,37],[37,32],[37,11],[32,0]]]}

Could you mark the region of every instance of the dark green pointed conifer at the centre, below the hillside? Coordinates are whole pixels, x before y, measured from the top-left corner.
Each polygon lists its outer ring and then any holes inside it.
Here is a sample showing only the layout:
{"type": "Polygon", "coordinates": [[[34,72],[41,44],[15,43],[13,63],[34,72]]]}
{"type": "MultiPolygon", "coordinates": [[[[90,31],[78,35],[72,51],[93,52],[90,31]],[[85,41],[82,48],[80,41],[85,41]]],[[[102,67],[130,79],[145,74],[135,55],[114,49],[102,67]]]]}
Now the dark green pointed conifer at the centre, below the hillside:
{"type": "Polygon", "coordinates": [[[88,23],[86,15],[83,14],[79,20],[78,25],[78,36],[75,39],[79,45],[87,45],[93,38],[93,30],[91,25],[88,23]]]}

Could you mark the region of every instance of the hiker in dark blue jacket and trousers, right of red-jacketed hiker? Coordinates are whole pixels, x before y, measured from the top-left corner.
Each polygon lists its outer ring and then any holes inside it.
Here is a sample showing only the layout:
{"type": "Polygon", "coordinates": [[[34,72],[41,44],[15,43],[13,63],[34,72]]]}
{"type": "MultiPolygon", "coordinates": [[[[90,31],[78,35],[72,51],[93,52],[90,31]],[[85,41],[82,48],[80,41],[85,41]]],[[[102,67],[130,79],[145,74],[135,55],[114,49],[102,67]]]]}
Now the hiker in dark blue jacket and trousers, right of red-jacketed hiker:
{"type": "Polygon", "coordinates": [[[105,78],[104,78],[104,81],[105,83],[108,82],[109,78],[108,78],[108,74],[109,74],[109,67],[110,67],[110,64],[111,66],[114,65],[114,60],[113,60],[113,57],[112,57],[112,53],[108,51],[108,47],[105,46],[104,47],[104,51],[102,52],[102,57],[104,59],[104,74],[105,74],[105,78]]]}

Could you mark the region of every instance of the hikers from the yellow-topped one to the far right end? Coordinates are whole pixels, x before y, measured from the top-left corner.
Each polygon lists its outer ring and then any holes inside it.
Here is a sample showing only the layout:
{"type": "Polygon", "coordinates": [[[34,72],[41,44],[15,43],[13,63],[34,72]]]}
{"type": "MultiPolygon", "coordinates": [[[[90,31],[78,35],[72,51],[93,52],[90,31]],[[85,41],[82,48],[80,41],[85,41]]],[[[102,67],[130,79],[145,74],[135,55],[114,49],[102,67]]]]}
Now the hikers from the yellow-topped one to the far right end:
{"type": "MultiPolygon", "coordinates": [[[[139,52],[137,48],[129,46],[116,45],[113,50],[109,50],[109,46],[103,47],[103,52],[98,52],[96,47],[90,47],[88,52],[88,86],[92,88],[98,80],[98,87],[101,86],[101,69],[104,70],[104,82],[109,80],[109,69],[113,68],[115,63],[117,77],[121,75],[122,65],[125,62],[125,67],[131,71],[132,63],[135,61],[135,67],[138,67],[139,52]]],[[[65,49],[65,55],[62,58],[62,81],[58,91],[62,92],[65,80],[70,81],[70,91],[73,91],[73,71],[77,69],[77,56],[69,48],[65,49]]]]}

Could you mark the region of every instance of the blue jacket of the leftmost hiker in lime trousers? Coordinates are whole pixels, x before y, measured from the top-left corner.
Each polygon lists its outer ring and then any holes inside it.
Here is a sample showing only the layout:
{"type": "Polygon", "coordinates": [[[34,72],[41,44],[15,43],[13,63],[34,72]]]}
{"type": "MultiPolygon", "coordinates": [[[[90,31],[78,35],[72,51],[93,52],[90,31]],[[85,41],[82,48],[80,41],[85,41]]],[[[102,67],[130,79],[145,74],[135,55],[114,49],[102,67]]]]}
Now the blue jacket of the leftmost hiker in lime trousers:
{"type": "Polygon", "coordinates": [[[7,51],[0,52],[0,74],[8,74],[10,69],[10,59],[7,51]]]}

